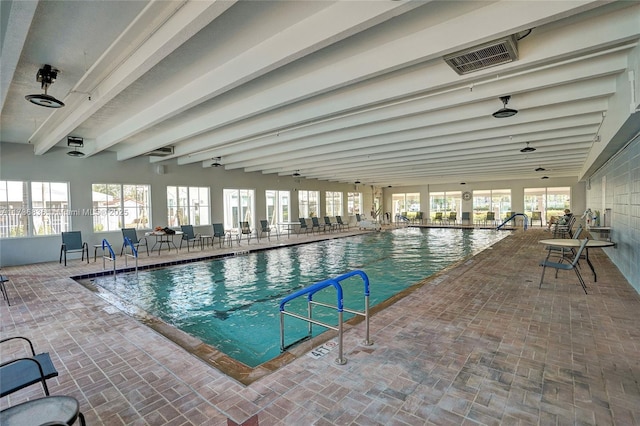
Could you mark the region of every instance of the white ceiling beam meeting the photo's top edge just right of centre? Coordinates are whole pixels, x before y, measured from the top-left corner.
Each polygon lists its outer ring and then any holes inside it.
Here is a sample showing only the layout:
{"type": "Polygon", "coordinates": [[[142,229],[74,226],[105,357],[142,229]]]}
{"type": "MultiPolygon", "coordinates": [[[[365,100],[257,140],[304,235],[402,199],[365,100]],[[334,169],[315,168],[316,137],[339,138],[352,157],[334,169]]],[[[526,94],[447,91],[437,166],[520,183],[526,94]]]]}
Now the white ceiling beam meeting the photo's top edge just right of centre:
{"type": "Polygon", "coordinates": [[[97,139],[98,149],[113,146],[199,103],[418,6],[414,2],[376,2],[363,9],[354,2],[332,4],[307,19],[293,22],[289,28],[203,73],[196,80],[186,82],[180,89],[101,135],[97,139]]]}

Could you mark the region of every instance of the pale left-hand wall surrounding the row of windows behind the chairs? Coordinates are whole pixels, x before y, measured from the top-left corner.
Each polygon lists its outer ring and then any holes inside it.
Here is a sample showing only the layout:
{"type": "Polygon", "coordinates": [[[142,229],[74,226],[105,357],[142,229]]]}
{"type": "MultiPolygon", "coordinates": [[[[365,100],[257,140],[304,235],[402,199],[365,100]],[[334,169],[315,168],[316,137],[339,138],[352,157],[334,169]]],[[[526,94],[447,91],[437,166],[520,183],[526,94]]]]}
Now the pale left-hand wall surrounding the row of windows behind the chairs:
{"type": "MultiPolygon", "coordinates": [[[[0,143],[0,180],[69,182],[70,210],[92,208],[91,185],[94,183],[148,184],[151,185],[152,200],[149,226],[166,226],[166,187],[168,185],[209,186],[212,222],[223,221],[222,194],[225,188],[256,191],[256,220],[266,218],[265,191],[267,189],[291,192],[291,217],[293,218],[298,217],[298,189],[321,191],[320,211],[324,211],[324,191],[343,191],[343,206],[346,209],[346,193],[354,190],[354,185],[335,182],[244,173],[239,170],[227,171],[224,167],[205,169],[200,163],[177,166],[174,161],[167,161],[166,173],[157,174],[156,164],[151,164],[146,157],[117,161],[115,153],[102,152],[88,158],[73,158],[66,155],[67,151],[67,149],[54,148],[45,155],[36,156],[33,154],[31,145],[0,143]]],[[[364,197],[363,205],[370,206],[371,191],[366,187],[361,187],[360,191],[364,197]]],[[[91,216],[73,216],[71,227],[75,231],[82,232],[83,239],[90,246],[91,256],[93,256],[91,246],[100,244],[103,238],[106,238],[114,247],[120,247],[121,232],[94,233],[91,216]]],[[[211,234],[210,228],[209,225],[195,229],[196,232],[211,234]]],[[[58,260],[60,245],[59,235],[0,239],[0,265],[58,260]]],[[[71,256],[75,255],[75,253],[71,254],[71,256]]]]}

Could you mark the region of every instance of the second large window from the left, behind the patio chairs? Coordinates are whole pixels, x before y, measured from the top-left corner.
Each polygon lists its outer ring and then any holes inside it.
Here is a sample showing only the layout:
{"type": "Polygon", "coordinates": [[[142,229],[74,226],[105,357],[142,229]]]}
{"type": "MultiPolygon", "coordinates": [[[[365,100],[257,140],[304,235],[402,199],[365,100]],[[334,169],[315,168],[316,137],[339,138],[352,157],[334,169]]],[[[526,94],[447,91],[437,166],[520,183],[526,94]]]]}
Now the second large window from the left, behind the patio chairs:
{"type": "Polygon", "coordinates": [[[151,188],[149,185],[94,183],[91,187],[95,232],[150,227],[151,188]]]}

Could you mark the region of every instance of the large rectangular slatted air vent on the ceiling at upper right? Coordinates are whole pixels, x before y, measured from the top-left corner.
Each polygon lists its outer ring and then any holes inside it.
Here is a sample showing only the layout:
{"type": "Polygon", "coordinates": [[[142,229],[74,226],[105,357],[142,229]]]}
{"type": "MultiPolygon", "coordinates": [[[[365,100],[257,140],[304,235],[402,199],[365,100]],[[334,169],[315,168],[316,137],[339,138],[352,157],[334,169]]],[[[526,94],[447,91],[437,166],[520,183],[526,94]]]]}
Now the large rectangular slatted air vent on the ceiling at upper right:
{"type": "Polygon", "coordinates": [[[474,46],[444,57],[451,68],[460,75],[480,71],[518,60],[515,36],[474,46]]]}

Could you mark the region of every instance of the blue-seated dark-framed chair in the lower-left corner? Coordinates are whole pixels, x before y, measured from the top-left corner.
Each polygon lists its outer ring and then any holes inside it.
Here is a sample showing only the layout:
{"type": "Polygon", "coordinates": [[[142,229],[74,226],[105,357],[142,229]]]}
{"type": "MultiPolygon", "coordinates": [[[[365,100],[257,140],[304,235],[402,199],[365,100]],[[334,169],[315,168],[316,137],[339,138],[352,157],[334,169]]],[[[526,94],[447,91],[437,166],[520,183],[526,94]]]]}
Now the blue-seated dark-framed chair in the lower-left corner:
{"type": "Polygon", "coordinates": [[[29,344],[30,353],[25,357],[0,364],[0,397],[36,383],[41,383],[45,395],[49,396],[47,380],[58,375],[49,353],[43,352],[36,355],[31,340],[21,336],[7,337],[0,340],[0,344],[18,339],[25,340],[29,344]]]}

